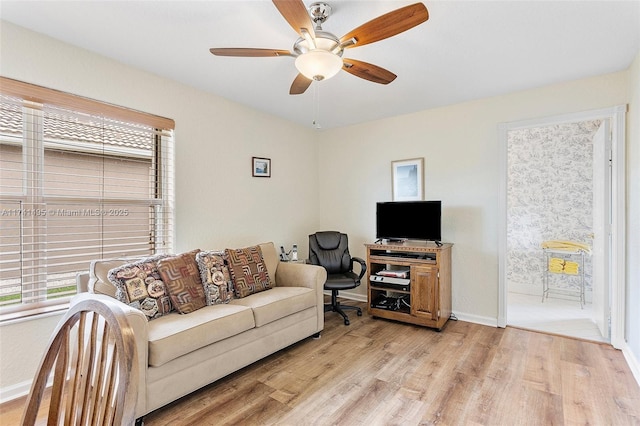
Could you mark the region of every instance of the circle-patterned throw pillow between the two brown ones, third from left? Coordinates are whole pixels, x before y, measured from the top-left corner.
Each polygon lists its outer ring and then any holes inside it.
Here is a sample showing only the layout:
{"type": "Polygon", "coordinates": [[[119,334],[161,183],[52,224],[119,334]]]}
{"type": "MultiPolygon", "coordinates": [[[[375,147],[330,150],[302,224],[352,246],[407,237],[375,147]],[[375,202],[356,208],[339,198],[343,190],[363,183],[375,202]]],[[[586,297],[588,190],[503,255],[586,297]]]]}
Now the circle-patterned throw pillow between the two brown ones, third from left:
{"type": "Polygon", "coordinates": [[[224,251],[201,251],[196,255],[207,305],[229,303],[233,299],[233,282],[224,257],[224,251]]]}

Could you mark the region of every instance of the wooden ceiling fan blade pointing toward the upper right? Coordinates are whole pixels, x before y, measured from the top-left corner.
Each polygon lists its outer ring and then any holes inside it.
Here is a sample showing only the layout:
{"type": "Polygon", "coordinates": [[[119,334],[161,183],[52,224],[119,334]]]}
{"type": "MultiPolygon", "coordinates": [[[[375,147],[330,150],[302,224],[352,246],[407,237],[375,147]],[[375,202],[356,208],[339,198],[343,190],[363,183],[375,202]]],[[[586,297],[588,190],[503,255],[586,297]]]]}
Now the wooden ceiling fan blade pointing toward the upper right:
{"type": "Polygon", "coordinates": [[[415,3],[401,7],[392,12],[378,16],[371,21],[360,25],[355,30],[346,34],[340,39],[340,43],[345,48],[364,46],[400,34],[403,31],[420,25],[429,19],[429,11],[422,3],[415,3]],[[355,44],[348,44],[349,40],[355,39],[355,44]]]}

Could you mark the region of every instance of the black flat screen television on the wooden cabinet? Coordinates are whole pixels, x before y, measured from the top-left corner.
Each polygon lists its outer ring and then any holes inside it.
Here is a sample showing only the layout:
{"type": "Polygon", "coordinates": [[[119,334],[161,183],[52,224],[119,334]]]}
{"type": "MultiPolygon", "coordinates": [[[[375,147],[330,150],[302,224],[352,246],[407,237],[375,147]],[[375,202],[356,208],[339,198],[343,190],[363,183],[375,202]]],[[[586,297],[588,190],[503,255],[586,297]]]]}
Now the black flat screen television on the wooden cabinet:
{"type": "Polygon", "coordinates": [[[376,203],[376,238],[440,243],[441,218],[441,201],[379,202],[376,203]]]}

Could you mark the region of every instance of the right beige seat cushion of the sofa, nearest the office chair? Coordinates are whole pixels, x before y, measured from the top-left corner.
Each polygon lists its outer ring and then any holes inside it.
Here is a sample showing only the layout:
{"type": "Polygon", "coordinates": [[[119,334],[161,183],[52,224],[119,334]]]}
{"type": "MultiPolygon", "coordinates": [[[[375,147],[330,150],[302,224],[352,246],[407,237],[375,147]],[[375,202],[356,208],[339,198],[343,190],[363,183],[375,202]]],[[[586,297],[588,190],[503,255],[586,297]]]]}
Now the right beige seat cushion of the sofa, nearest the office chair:
{"type": "Polygon", "coordinates": [[[234,299],[230,304],[247,306],[252,309],[256,327],[293,313],[316,306],[314,289],[307,287],[275,287],[269,291],[255,293],[242,299],[234,299]]]}

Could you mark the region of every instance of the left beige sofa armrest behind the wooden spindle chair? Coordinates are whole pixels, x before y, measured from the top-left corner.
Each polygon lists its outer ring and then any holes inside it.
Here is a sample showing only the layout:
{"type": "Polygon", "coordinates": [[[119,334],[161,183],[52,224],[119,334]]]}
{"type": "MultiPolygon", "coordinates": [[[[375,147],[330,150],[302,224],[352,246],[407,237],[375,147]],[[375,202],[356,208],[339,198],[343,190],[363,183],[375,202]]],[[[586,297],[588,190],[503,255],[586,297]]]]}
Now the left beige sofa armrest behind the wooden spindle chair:
{"type": "Polygon", "coordinates": [[[142,311],[132,308],[113,297],[104,294],[80,293],[71,299],[71,306],[76,305],[82,300],[110,300],[116,302],[124,312],[129,325],[133,329],[133,335],[136,339],[136,351],[138,354],[138,403],[136,405],[136,417],[146,414],[147,399],[147,369],[149,367],[149,332],[147,328],[147,317],[142,311]]]}

